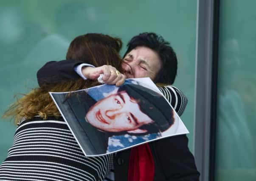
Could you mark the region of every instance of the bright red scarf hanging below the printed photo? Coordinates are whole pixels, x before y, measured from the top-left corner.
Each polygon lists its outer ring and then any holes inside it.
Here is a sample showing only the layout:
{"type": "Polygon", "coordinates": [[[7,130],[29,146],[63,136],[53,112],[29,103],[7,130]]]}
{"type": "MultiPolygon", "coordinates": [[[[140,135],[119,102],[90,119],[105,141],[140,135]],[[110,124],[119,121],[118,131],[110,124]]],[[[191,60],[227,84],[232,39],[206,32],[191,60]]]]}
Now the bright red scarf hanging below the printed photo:
{"type": "Polygon", "coordinates": [[[149,144],[131,149],[129,157],[128,181],[153,181],[155,163],[149,144]]]}

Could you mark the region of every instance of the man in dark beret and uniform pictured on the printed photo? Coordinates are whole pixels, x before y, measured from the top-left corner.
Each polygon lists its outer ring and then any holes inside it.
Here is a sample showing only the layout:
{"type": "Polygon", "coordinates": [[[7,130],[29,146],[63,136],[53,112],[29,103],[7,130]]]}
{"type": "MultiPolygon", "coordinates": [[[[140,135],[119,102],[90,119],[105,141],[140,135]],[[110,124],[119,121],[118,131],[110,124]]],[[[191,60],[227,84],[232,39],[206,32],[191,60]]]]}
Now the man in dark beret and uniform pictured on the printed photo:
{"type": "Polygon", "coordinates": [[[62,109],[62,114],[67,120],[76,117],[76,127],[82,129],[82,135],[86,134],[89,141],[86,149],[95,151],[94,154],[106,153],[110,136],[160,133],[174,123],[174,112],[165,98],[137,84],[124,84],[100,100],[86,91],[73,92],[66,102],[69,107],[66,111],[62,109]]]}

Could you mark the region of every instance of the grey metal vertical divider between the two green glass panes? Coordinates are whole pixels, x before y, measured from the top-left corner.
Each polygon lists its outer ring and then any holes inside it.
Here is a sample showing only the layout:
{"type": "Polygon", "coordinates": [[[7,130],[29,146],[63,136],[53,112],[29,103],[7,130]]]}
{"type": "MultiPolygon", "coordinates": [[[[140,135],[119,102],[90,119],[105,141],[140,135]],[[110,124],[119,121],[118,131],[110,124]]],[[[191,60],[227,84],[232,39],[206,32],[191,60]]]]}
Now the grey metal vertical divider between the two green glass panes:
{"type": "Polygon", "coordinates": [[[194,156],[200,181],[214,181],[219,0],[197,0],[194,156]]]}

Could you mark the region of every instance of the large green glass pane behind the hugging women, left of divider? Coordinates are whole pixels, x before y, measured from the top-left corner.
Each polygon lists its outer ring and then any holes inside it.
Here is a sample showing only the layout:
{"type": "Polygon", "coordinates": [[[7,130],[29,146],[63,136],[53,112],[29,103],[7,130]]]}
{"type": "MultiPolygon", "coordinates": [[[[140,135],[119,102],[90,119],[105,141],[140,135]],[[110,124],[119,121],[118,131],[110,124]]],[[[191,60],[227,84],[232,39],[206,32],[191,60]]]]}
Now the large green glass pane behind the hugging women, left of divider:
{"type": "MultiPolygon", "coordinates": [[[[192,150],[196,14],[197,0],[1,0],[0,114],[14,102],[14,95],[37,86],[36,72],[43,64],[65,59],[76,36],[107,33],[126,45],[132,36],[153,31],[171,42],[177,53],[174,86],[188,97],[181,118],[191,132],[192,150]]],[[[0,119],[0,162],[12,145],[14,131],[13,123],[0,119]]]]}

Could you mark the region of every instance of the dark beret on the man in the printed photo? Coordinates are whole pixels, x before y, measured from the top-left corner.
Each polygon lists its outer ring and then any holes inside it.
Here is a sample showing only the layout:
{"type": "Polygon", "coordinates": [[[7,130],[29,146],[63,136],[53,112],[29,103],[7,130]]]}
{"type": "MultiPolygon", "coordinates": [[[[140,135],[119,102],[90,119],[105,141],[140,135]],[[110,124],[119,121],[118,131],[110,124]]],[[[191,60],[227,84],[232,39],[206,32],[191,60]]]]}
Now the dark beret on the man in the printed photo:
{"type": "Polygon", "coordinates": [[[140,127],[140,129],[147,130],[144,134],[163,132],[173,125],[174,112],[158,92],[138,84],[124,84],[118,89],[118,92],[123,91],[135,99],[141,111],[154,121],[140,127]]]}

